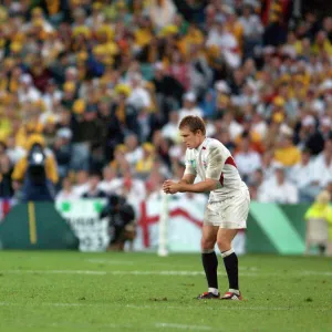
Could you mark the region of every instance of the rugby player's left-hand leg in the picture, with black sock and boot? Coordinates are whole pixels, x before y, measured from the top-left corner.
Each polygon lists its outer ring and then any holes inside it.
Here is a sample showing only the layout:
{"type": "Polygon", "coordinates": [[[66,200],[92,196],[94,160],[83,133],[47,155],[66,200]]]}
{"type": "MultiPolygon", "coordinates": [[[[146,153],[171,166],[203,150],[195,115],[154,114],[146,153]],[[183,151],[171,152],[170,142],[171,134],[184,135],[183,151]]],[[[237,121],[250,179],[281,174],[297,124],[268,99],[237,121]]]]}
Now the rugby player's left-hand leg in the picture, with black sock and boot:
{"type": "Polygon", "coordinates": [[[201,263],[204,267],[206,280],[208,283],[208,291],[198,295],[198,299],[218,299],[218,258],[215,252],[215,245],[217,241],[218,226],[204,225],[201,232],[201,263]]]}

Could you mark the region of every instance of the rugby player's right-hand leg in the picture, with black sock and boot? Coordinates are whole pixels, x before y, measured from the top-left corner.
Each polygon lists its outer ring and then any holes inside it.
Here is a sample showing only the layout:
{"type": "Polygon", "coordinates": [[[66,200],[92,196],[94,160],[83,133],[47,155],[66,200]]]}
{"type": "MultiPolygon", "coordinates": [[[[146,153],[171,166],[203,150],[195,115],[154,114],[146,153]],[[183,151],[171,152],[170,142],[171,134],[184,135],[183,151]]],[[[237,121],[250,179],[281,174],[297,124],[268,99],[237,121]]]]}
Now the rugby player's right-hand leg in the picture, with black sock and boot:
{"type": "Polygon", "coordinates": [[[217,245],[224,259],[224,264],[229,282],[229,291],[226,293],[226,297],[231,298],[235,294],[240,299],[238,257],[231,248],[231,241],[236,237],[237,232],[237,229],[219,228],[217,235],[217,245]]]}

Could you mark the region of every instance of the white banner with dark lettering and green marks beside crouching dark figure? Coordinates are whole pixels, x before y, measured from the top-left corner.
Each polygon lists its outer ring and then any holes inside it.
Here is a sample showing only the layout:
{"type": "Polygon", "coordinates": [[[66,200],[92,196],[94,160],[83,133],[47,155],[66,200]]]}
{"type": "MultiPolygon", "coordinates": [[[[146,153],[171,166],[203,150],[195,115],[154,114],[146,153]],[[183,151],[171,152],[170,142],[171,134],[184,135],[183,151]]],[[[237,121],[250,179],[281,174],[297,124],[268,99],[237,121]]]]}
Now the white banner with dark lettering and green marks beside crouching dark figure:
{"type": "Polygon", "coordinates": [[[80,251],[105,251],[110,243],[107,219],[100,219],[105,199],[59,200],[55,207],[80,240],[80,251]]]}

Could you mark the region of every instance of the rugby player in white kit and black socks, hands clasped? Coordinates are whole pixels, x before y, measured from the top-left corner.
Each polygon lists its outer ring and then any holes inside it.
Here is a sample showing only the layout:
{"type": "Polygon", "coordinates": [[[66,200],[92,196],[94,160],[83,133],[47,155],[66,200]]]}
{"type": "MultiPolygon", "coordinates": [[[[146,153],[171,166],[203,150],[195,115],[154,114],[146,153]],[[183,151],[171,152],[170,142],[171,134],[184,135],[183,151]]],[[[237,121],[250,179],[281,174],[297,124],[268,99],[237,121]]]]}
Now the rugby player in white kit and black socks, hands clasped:
{"type": "Polygon", "coordinates": [[[238,258],[231,241],[239,229],[247,226],[250,196],[241,180],[230,152],[218,139],[206,137],[206,126],[199,116],[186,116],[179,123],[183,142],[187,146],[186,169],[183,178],[163,184],[166,194],[209,191],[204,215],[201,262],[208,291],[197,299],[241,300],[238,258]],[[196,176],[200,181],[195,183],[196,176]],[[228,276],[229,290],[220,297],[218,289],[217,243],[228,276]]]}

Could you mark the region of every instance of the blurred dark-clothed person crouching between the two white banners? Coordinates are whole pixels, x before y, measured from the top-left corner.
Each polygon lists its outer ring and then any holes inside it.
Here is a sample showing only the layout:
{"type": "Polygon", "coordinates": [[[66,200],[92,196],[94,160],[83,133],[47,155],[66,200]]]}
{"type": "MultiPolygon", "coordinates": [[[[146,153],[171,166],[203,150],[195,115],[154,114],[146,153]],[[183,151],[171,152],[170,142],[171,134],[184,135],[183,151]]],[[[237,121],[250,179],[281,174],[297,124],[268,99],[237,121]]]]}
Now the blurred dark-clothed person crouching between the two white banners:
{"type": "Polygon", "coordinates": [[[136,236],[135,211],[124,197],[111,195],[108,204],[101,212],[101,218],[108,218],[111,241],[108,250],[124,250],[128,240],[133,245],[136,236]]]}

